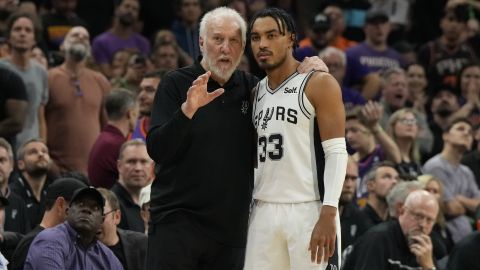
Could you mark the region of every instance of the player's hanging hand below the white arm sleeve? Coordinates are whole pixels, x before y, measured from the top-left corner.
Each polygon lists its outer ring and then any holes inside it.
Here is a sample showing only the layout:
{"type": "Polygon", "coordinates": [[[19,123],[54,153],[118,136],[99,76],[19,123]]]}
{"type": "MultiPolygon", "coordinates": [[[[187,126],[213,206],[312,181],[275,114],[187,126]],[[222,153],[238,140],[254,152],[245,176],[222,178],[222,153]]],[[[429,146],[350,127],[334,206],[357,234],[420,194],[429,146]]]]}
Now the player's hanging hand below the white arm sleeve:
{"type": "Polygon", "coordinates": [[[335,238],[337,236],[336,215],[337,209],[335,207],[322,206],[320,217],[313,228],[308,248],[312,262],[320,264],[322,258],[324,262],[328,262],[328,259],[333,256],[335,252],[335,238]]]}

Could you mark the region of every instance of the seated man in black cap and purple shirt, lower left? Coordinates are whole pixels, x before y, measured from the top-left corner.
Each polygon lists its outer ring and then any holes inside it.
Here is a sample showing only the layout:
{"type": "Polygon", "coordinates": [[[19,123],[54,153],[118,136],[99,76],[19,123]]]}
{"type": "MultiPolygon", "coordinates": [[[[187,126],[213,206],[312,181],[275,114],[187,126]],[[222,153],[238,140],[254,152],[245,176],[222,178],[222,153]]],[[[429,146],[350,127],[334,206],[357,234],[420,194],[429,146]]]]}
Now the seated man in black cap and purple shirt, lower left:
{"type": "Polygon", "coordinates": [[[77,190],[66,210],[66,222],[37,235],[24,269],[123,269],[113,252],[96,238],[104,206],[95,188],[77,190]]]}

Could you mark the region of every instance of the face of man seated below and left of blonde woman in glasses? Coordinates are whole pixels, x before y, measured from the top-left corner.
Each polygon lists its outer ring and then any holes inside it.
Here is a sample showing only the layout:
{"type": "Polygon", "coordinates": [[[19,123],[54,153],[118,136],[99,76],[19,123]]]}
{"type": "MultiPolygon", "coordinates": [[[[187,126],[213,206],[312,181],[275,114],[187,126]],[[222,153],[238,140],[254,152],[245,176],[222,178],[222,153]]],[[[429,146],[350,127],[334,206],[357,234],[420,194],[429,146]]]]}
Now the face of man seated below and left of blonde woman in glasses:
{"type": "Polygon", "coordinates": [[[379,167],[374,181],[368,181],[368,192],[378,198],[385,199],[390,190],[397,184],[400,177],[397,170],[392,167],[379,167]]]}

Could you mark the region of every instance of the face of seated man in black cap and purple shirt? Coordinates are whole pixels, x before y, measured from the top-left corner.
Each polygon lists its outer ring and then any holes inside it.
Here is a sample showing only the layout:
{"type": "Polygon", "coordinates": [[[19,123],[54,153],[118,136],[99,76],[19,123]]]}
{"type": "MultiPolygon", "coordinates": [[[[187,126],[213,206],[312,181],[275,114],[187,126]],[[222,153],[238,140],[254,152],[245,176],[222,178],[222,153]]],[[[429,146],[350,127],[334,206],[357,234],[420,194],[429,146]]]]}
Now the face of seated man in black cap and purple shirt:
{"type": "Polygon", "coordinates": [[[88,195],[78,198],[67,210],[67,221],[79,234],[97,233],[103,223],[101,206],[88,195]]]}

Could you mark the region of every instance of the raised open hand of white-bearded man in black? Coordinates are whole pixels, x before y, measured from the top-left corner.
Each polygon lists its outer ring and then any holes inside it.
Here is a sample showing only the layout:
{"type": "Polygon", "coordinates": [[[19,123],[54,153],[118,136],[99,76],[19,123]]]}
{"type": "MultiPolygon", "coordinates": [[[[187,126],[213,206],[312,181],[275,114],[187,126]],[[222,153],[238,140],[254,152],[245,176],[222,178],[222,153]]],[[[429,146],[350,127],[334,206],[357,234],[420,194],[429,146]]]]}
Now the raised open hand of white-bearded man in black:
{"type": "Polygon", "coordinates": [[[207,71],[198,76],[187,91],[187,100],[182,104],[182,111],[190,119],[200,107],[207,105],[225,92],[223,88],[218,88],[210,93],[207,91],[210,74],[211,72],[207,71]]]}

